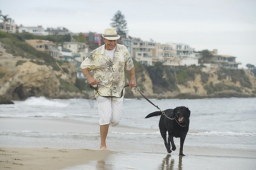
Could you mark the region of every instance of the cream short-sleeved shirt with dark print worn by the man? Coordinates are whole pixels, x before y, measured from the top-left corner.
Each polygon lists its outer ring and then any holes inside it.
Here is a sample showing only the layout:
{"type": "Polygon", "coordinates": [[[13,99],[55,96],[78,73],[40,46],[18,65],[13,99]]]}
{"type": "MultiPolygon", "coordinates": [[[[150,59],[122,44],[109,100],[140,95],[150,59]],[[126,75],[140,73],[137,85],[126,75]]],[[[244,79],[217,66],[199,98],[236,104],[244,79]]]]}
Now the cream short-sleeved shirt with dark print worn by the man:
{"type": "MultiPolygon", "coordinates": [[[[102,96],[121,96],[125,86],[124,68],[131,70],[133,61],[126,46],[116,44],[113,61],[105,52],[105,44],[93,50],[81,63],[81,69],[93,71],[98,80],[98,92],[102,96]]],[[[125,90],[124,90],[125,92],[125,90]]],[[[95,92],[95,97],[98,94],[95,92]]]]}

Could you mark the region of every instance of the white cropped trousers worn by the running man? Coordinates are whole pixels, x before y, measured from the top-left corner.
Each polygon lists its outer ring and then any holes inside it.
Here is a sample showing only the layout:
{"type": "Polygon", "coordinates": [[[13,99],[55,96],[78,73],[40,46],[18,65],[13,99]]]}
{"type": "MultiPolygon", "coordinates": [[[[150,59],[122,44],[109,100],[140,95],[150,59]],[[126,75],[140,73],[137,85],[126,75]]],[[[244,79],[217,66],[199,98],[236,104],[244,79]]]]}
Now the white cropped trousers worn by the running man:
{"type": "Polygon", "coordinates": [[[124,96],[121,98],[97,96],[96,100],[100,115],[99,125],[118,125],[123,111],[124,96]]]}

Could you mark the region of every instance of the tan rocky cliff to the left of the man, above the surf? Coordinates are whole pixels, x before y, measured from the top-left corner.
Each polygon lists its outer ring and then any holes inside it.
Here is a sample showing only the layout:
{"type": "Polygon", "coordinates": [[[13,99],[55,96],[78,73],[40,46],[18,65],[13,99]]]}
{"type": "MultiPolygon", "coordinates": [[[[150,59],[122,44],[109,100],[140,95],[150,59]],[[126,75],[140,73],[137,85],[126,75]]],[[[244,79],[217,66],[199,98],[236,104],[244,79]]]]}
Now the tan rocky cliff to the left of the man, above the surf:
{"type": "Polygon", "coordinates": [[[0,96],[5,100],[25,100],[30,96],[61,99],[88,97],[74,86],[74,63],[64,63],[60,71],[54,71],[51,66],[38,65],[26,58],[0,57],[0,61],[0,96]]]}

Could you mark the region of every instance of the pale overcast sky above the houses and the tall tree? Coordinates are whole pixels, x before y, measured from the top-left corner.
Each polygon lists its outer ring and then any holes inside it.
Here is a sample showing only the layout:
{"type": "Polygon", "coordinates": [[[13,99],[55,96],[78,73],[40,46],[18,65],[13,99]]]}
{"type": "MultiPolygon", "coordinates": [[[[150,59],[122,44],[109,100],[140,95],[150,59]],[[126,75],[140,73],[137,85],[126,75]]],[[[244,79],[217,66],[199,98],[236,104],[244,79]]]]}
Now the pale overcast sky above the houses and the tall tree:
{"type": "Polygon", "coordinates": [[[120,10],[131,37],[217,49],[237,57],[238,68],[256,66],[255,0],[0,0],[0,10],[18,26],[65,27],[73,33],[104,33],[120,10]]]}

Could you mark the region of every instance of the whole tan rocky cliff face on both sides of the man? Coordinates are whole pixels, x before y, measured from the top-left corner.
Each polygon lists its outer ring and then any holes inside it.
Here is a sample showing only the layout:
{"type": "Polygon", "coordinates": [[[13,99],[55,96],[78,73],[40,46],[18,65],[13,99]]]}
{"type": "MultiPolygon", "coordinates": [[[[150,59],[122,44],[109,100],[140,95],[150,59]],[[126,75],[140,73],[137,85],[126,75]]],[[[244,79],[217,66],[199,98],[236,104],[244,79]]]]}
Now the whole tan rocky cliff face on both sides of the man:
{"type": "MultiPolygon", "coordinates": [[[[74,63],[57,64],[59,69],[54,70],[44,61],[14,57],[4,49],[0,51],[0,100],[25,100],[30,96],[60,99],[92,97],[91,91],[77,86],[74,63]]],[[[256,96],[256,78],[246,70],[167,67],[160,63],[150,67],[137,62],[135,70],[137,87],[148,97],[192,99],[256,96]]],[[[82,82],[81,86],[88,85],[82,82]]],[[[127,88],[126,97],[141,95],[136,88],[127,88]]]]}

